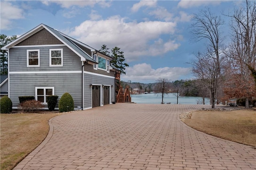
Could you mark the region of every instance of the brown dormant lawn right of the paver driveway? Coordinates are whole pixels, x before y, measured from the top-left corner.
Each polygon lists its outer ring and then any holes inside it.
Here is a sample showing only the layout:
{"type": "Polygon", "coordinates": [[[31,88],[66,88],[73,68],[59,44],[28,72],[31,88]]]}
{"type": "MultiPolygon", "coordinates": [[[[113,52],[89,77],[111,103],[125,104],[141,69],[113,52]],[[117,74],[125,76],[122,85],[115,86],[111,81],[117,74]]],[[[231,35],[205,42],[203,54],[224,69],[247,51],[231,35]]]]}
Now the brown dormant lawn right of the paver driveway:
{"type": "MultiPolygon", "coordinates": [[[[256,147],[256,111],[196,111],[181,119],[186,125],[209,135],[256,147]]],[[[182,117],[181,117],[182,118],[182,117]]]]}

